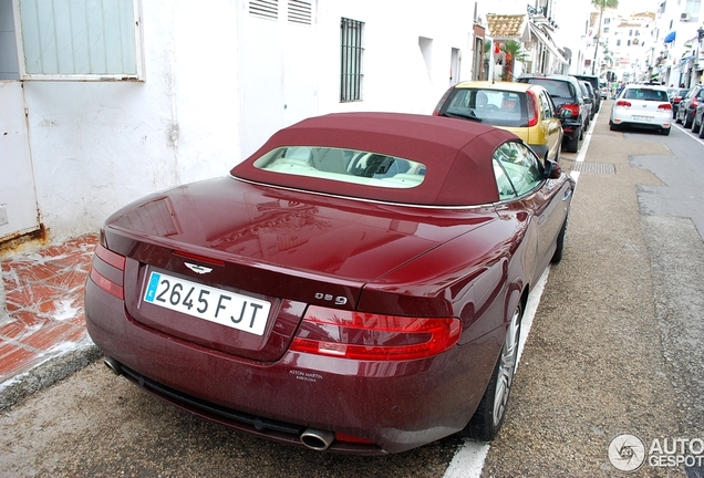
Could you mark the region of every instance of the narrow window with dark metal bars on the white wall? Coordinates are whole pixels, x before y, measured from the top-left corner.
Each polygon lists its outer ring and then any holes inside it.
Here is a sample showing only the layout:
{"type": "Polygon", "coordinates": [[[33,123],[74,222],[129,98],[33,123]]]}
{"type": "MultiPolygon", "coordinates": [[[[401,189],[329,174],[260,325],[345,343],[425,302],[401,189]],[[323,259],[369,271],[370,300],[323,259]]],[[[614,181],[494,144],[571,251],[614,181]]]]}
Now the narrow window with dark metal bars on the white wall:
{"type": "Polygon", "coordinates": [[[362,27],[364,23],[343,18],[340,22],[340,101],[362,100],[362,27]]]}

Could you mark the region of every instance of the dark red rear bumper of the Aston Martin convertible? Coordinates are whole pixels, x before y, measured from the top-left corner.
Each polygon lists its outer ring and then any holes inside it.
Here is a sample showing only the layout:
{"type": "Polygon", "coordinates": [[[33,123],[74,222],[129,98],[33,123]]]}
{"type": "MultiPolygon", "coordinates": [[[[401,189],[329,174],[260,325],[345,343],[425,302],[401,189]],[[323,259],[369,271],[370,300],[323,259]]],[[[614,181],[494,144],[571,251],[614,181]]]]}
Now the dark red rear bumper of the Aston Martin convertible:
{"type": "Polygon", "coordinates": [[[359,455],[404,451],[464,428],[504,334],[496,330],[477,343],[408,362],[287,352],[275,363],[257,363],[139,324],[90,279],[85,318],[93,341],[128,368],[133,383],[175,406],[276,441],[302,446],[300,433],[308,427],[372,441],[335,440],[329,448],[359,455]]]}

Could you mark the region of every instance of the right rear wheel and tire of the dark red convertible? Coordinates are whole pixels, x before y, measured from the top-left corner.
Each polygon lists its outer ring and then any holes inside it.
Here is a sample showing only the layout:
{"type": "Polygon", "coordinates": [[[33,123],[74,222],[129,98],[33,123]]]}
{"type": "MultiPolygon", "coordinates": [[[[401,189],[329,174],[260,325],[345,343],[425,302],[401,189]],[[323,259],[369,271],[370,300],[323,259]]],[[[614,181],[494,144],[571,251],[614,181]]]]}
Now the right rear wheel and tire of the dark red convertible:
{"type": "Polygon", "coordinates": [[[518,341],[522,315],[524,308],[519,303],[511,315],[501,353],[496,362],[482,402],[479,402],[479,406],[467,426],[460,432],[460,435],[465,437],[490,441],[496,438],[501,425],[504,425],[506,405],[514,384],[516,362],[518,362],[518,341]]]}

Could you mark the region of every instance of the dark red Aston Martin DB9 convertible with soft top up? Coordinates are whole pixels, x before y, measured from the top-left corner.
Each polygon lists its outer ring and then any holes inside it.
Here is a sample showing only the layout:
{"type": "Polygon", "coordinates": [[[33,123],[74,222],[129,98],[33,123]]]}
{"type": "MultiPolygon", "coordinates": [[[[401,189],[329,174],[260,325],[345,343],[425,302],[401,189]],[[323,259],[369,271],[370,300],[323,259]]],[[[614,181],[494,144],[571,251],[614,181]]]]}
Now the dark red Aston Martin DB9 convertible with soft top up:
{"type": "Polygon", "coordinates": [[[574,183],[517,136],[333,114],[112,215],[85,291],[118,374],[200,417],[377,455],[505,417],[574,183]]]}

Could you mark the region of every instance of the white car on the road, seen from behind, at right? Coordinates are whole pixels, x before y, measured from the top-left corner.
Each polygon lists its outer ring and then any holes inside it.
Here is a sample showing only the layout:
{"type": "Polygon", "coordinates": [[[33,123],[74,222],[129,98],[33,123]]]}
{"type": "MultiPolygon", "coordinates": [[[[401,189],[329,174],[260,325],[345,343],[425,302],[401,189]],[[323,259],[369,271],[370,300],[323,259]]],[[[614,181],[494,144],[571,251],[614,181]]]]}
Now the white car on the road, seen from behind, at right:
{"type": "Polygon", "coordinates": [[[611,131],[622,127],[656,129],[663,135],[670,134],[672,126],[672,104],[667,90],[662,86],[627,85],[613,102],[611,131]]]}

